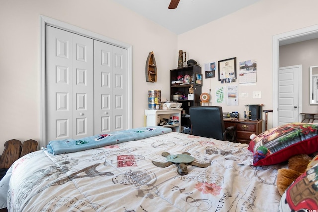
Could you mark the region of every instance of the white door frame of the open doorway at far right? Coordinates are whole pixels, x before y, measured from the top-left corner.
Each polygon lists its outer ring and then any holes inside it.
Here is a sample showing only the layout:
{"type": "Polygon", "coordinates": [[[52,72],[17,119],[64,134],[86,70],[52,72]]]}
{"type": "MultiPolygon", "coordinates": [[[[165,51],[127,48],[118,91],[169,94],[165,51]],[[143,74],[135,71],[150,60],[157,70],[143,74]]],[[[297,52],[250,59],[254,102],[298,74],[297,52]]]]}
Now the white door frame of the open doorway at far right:
{"type": "MultiPolygon", "coordinates": [[[[278,34],[273,36],[273,127],[278,126],[278,71],[279,71],[279,42],[289,39],[299,39],[301,37],[312,36],[318,33],[318,25],[297,29],[294,31],[278,34]]],[[[299,41],[305,41],[298,40],[299,41]]],[[[295,43],[295,42],[294,42],[295,43]]],[[[302,82],[300,82],[302,85],[302,82]]],[[[302,96],[302,86],[300,87],[300,98],[302,96]]],[[[299,111],[302,112],[302,101],[299,103],[299,111]]]]}

